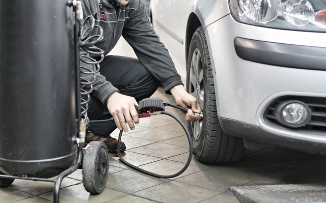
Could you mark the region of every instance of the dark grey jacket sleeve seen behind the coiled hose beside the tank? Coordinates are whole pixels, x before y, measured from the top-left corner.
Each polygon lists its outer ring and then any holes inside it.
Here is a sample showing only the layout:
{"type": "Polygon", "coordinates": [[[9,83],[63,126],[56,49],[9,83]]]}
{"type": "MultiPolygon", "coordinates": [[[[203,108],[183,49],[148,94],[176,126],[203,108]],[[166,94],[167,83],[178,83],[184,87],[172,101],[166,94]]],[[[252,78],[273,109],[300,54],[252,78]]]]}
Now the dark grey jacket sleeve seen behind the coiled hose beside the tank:
{"type": "MultiPolygon", "coordinates": [[[[88,3],[87,0],[84,0],[84,2],[83,2],[83,14],[84,14],[84,20],[86,19],[87,16],[95,15],[91,12],[90,4],[88,3]]],[[[98,23],[95,23],[95,24],[98,24],[98,23]]],[[[89,27],[90,23],[87,22],[85,24],[85,26],[89,27]]],[[[85,28],[84,28],[84,30],[86,30],[85,28]]],[[[87,53],[82,48],[79,49],[79,54],[80,54],[80,56],[82,56],[82,55],[89,56],[89,53],[87,53]]],[[[90,60],[87,59],[85,61],[90,61],[90,60]]],[[[82,67],[85,67],[92,72],[94,72],[96,70],[96,67],[94,65],[90,65],[90,64],[84,63],[82,61],[80,61],[80,67],[81,67],[80,68],[80,71],[81,71],[80,76],[85,78],[88,81],[93,81],[94,75],[82,73],[82,71],[88,72],[85,69],[83,69],[82,67]]],[[[113,84],[111,82],[106,81],[106,78],[103,75],[101,75],[99,72],[97,72],[95,74],[95,76],[96,76],[96,78],[95,78],[95,82],[93,83],[93,92],[91,94],[94,97],[96,97],[97,99],[99,99],[103,104],[106,104],[107,99],[110,98],[110,96],[113,93],[119,92],[119,90],[117,88],[115,88],[115,86],[113,86],[113,84]]],[[[91,86],[83,85],[82,88],[84,88],[85,90],[90,90],[91,86]]]]}

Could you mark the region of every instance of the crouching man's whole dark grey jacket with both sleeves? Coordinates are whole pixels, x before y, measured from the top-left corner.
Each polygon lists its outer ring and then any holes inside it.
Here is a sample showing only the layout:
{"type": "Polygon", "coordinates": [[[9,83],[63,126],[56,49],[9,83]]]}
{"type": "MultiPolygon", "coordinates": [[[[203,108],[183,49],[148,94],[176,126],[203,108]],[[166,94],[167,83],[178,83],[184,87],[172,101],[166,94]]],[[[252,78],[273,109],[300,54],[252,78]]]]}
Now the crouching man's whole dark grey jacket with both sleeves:
{"type": "MultiPolygon", "coordinates": [[[[117,44],[121,35],[133,48],[138,60],[157,78],[166,93],[175,85],[182,84],[168,50],[159,41],[148,19],[145,4],[142,0],[130,0],[121,6],[114,0],[83,0],[84,19],[92,15],[95,24],[103,28],[103,40],[96,46],[103,49],[104,55],[109,53],[117,44]]],[[[80,54],[85,54],[81,51],[80,54]]],[[[81,62],[81,65],[85,65],[81,62]]],[[[89,68],[94,68],[90,67],[89,68]]],[[[92,76],[83,75],[92,80],[92,76]]],[[[114,93],[119,92],[110,81],[97,73],[93,84],[93,96],[105,104],[114,93]]],[[[84,88],[88,89],[87,86],[84,88]]]]}

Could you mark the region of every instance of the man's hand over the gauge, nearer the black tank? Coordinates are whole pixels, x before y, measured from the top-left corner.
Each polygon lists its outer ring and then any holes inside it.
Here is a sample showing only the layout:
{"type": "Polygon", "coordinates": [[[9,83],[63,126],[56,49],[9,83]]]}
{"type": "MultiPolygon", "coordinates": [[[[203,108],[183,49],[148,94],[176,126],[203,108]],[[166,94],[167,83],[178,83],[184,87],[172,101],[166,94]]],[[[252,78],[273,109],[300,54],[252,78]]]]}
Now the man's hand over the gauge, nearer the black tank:
{"type": "Polygon", "coordinates": [[[107,100],[107,109],[113,115],[114,122],[119,130],[128,132],[128,123],[131,130],[134,129],[134,124],[139,123],[138,113],[134,105],[138,106],[137,101],[133,97],[113,93],[107,100]]]}

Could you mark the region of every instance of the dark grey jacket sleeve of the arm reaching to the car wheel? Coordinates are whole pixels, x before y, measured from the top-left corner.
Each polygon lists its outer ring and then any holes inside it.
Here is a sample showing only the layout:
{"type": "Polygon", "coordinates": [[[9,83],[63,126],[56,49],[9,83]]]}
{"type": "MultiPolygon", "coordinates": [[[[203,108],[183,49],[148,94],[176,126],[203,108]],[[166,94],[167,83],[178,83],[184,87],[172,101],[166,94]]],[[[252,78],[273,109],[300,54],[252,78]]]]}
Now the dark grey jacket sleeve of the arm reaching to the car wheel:
{"type": "Polygon", "coordinates": [[[142,0],[130,5],[122,36],[133,48],[138,60],[157,78],[167,94],[178,84],[183,84],[177,73],[171,56],[159,41],[148,18],[145,4],[142,0]],[[132,7],[131,7],[132,6],[132,7]]]}

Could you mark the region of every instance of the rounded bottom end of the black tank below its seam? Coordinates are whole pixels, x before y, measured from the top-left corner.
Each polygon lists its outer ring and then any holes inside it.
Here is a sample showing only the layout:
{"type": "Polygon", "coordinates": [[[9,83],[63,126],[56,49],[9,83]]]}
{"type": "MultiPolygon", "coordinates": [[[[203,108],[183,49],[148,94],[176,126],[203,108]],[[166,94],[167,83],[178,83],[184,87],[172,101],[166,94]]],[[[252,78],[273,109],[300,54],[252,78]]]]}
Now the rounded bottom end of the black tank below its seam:
{"type": "Polygon", "coordinates": [[[64,157],[31,161],[0,158],[0,171],[8,176],[51,178],[72,166],[76,155],[77,151],[64,157]]]}

